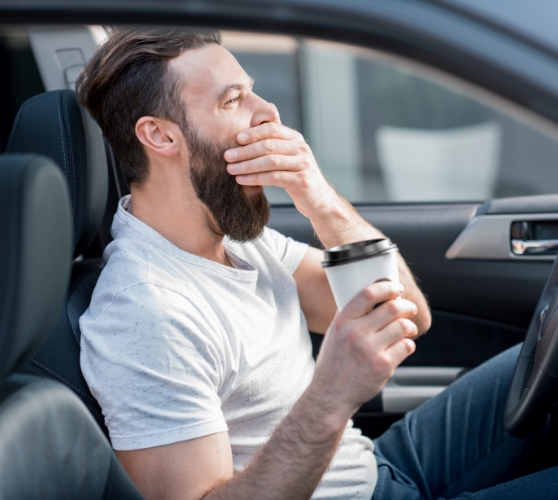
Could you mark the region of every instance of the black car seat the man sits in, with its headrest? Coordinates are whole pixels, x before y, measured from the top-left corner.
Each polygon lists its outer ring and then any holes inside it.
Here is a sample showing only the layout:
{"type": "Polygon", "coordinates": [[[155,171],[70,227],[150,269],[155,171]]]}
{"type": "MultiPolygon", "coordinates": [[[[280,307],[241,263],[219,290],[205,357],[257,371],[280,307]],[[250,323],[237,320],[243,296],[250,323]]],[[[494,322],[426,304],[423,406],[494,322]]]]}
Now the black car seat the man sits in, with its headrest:
{"type": "Polygon", "coordinates": [[[75,92],[56,90],[27,100],[14,122],[6,152],[49,156],[66,177],[74,228],[70,287],[66,307],[42,349],[20,370],[62,382],[87,406],[108,435],[99,404],[79,365],[79,317],[91,302],[102,261],[82,259],[99,231],[107,203],[107,159],[101,130],[78,103],[75,92]]]}

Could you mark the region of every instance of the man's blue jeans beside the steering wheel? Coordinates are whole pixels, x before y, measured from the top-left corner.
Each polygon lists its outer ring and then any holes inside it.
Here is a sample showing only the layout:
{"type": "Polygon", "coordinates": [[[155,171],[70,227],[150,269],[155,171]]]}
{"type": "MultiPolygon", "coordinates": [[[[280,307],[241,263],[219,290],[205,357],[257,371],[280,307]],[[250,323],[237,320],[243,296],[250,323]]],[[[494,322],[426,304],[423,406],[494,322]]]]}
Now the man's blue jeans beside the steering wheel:
{"type": "Polygon", "coordinates": [[[546,452],[547,421],[525,439],[503,427],[519,349],[461,377],[374,441],[374,500],[558,498],[558,467],[523,475],[546,452]]]}

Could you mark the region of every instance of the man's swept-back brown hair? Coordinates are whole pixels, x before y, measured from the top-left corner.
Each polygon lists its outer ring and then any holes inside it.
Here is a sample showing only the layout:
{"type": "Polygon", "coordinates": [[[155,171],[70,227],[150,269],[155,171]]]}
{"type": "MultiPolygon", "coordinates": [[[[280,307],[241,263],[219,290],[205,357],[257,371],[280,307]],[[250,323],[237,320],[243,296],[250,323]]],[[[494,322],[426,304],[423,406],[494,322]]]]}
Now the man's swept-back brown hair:
{"type": "Polygon", "coordinates": [[[168,62],[212,43],[221,44],[219,32],[115,30],[79,76],[79,100],[101,127],[128,184],[141,185],[149,173],[135,132],[142,116],[167,119],[187,130],[183,82],[168,62]]]}

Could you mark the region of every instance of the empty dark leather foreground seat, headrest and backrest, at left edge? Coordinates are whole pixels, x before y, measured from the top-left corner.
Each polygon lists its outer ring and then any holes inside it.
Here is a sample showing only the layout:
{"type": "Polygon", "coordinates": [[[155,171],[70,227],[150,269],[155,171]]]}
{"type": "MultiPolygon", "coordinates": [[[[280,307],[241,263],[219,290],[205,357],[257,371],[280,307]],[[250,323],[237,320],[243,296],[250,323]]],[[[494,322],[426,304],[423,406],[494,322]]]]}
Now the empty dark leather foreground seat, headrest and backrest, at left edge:
{"type": "Polygon", "coordinates": [[[70,217],[52,160],[0,156],[0,498],[140,499],[73,392],[11,375],[48,337],[64,303],[70,217]]]}

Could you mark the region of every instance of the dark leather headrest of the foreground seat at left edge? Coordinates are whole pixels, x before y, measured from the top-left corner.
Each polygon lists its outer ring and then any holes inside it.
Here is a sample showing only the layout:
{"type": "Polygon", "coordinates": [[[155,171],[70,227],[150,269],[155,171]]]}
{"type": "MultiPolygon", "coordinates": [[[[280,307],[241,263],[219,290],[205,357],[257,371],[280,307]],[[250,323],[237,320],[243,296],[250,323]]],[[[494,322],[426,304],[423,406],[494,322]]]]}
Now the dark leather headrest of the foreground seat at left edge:
{"type": "Polygon", "coordinates": [[[49,158],[0,155],[0,381],[45,340],[72,257],[66,181],[49,158]]]}

